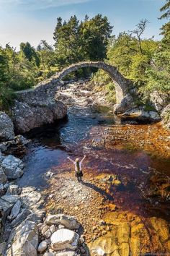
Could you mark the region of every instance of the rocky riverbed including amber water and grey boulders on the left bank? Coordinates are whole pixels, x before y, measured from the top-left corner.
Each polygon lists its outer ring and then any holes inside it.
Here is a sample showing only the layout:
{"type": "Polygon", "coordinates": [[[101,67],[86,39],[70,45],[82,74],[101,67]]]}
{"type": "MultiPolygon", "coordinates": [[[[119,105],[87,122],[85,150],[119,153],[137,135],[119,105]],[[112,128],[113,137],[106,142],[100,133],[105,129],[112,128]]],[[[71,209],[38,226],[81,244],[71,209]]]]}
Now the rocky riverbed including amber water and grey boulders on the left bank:
{"type": "Polygon", "coordinates": [[[119,119],[106,95],[68,84],[67,119],[1,135],[0,255],[170,253],[169,131],[119,119]],[[84,154],[78,183],[67,156],[84,154]]]}

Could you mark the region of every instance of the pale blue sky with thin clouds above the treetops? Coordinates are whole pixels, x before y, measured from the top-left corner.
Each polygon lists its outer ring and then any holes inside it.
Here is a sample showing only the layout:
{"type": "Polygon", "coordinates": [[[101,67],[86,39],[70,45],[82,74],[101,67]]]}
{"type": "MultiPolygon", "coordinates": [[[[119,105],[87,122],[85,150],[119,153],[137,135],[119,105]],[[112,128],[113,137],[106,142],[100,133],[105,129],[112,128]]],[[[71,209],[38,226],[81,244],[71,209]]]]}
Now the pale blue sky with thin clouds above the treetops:
{"type": "Polygon", "coordinates": [[[83,20],[88,14],[106,15],[114,26],[112,34],[133,30],[142,19],[148,27],[144,38],[161,39],[160,27],[166,20],[158,20],[159,9],[165,0],[0,0],[0,45],[10,43],[17,50],[21,42],[37,47],[40,40],[53,45],[57,17],[68,20],[76,14],[83,20]]]}

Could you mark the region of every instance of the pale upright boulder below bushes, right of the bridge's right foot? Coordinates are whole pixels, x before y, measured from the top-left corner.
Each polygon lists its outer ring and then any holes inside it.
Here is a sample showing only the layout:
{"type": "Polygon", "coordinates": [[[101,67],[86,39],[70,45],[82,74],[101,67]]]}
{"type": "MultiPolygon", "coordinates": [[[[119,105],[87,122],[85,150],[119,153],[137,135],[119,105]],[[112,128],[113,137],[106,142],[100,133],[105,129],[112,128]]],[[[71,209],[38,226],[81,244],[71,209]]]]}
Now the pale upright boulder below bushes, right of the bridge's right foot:
{"type": "Polygon", "coordinates": [[[150,101],[156,111],[161,111],[169,102],[169,94],[155,91],[150,94],[150,101]]]}

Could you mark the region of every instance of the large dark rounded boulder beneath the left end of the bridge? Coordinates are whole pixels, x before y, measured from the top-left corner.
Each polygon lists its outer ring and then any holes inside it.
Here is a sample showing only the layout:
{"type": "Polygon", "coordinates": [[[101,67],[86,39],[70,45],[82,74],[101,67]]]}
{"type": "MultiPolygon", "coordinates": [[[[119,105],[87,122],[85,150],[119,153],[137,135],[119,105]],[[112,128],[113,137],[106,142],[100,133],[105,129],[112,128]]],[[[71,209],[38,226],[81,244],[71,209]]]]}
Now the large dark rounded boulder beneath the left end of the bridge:
{"type": "Polygon", "coordinates": [[[15,101],[12,111],[14,127],[17,132],[29,132],[35,127],[43,124],[51,124],[56,119],[66,116],[66,106],[62,102],[49,103],[49,105],[39,106],[29,103],[15,101]]]}

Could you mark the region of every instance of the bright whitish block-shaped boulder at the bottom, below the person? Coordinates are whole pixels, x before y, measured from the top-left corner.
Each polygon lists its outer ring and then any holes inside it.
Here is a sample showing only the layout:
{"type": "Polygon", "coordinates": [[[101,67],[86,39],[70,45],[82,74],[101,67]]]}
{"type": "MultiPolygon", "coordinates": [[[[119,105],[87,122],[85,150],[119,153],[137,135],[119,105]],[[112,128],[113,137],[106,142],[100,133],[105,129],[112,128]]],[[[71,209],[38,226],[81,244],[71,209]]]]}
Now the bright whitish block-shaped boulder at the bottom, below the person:
{"type": "Polygon", "coordinates": [[[62,249],[76,250],[79,242],[79,234],[68,229],[59,229],[50,237],[51,247],[55,251],[62,249]]]}

